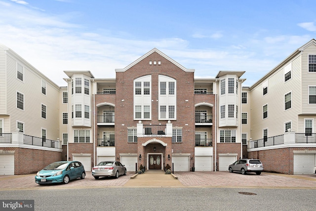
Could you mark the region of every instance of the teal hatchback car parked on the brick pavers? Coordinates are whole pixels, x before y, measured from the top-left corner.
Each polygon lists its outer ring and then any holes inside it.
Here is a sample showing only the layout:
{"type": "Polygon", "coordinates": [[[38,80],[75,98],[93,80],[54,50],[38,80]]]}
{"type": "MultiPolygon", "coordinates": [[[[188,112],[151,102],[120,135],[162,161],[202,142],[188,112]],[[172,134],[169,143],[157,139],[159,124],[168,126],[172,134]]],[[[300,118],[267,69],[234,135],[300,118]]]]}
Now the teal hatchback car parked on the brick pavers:
{"type": "Polygon", "coordinates": [[[64,183],[67,184],[72,179],[84,179],[85,170],[79,161],[60,161],[49,164],[40,170],[35,176],[35,182],[39,185],[64,183]]]}

